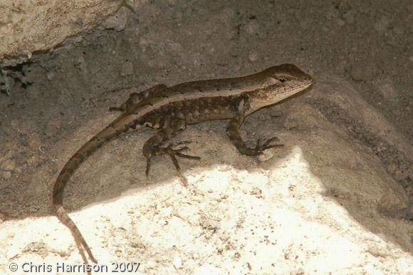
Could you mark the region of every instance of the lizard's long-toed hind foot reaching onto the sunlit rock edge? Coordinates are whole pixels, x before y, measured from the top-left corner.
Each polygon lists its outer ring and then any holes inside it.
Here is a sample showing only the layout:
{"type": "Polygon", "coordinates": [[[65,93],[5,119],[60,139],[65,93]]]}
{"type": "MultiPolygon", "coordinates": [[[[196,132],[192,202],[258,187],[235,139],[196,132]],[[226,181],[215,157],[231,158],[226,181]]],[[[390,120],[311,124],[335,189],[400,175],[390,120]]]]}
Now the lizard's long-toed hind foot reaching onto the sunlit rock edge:
{"type": "Polygon", "coordinates": [[[177,142],[175,144],[169,144],[167,147],[152,148],[151,154],[150,155],[145,155],[146,160],[147,160],[146,172],[145,172],[146,176],[149,175],[150,161],[151,161],[152,156],[153,155],[167,154],[167,155],[169,155],[169,157],[171,157],[172,163],[174,164],[174,167],[177,170],[178,175],[182,180],[182,183],[184,184],[184,186],[187,186],[188,185],[187,178],[184,177],[184,175],[182,174],[181,167],[179,166],[179,162],[177,160],[177,157],[183,157],[183,158],[187,158],[187,159],[190,159],[190,160],[200,160],[201,159],[201,157],[198,157],[198,156],[186,155],[186,154],[182,153],[182,151],[189,149],[186,146],[186,144],[188,144],[188,143],[190,143],[190,142],[184,141],[184,142],[177,142]]]}

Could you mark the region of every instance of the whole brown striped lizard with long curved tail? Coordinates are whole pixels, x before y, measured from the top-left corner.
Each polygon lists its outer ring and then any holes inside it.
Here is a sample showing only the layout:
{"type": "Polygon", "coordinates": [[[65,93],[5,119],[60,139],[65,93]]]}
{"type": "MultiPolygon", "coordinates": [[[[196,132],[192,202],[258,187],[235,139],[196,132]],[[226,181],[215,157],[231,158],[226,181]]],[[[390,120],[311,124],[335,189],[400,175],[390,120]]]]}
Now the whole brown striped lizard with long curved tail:
{"type": "Polygon", "coordinates": [[[251,113],[290,98],[312,84],[311,76],[297,66],[285,63],[238,78],[192,81],[170,87],[164,84],[155,85],[140,93],[131,93],[125,103],[119,107],[109,108],[111,111],[121,111],[122,114],[70,157],[53,187],[52,200],[56,216],[70,229],[84,263],[88,264],[85,251],[91,261],[97,263],[97,260],[63,206],[63,191],[75,170],[95,150],[132,130],[155,129],[157,133],[152,135],[142,148],[147,160],[145,174],[148,175],[150,172],[153,156],[169,155],[182,183],[187,185],[177,157],[194,160],[199,157],[182,153],[188,149],[187,146],[166,145],[172,137],[182,133],[190,124],[229,119],[226,135],[241,154],[260,155],[269,148],[282,147],[283,145],[274,144],[278,142],[277,137],[271,137],[265,142],[258,138],[255,147],[248,147],[241,138],[239,128],[251,113]]]}

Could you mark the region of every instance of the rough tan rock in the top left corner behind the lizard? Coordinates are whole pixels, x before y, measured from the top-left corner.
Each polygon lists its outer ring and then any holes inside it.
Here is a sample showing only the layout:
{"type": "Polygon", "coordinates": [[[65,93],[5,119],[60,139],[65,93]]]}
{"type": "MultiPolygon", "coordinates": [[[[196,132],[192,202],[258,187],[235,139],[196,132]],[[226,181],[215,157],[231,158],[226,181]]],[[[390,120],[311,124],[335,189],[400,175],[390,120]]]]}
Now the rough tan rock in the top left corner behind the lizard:
{"type": "Polygon", "coordinates": [[[122,0],[1,1],[0,61],[5,56],[12,60],[21,56],[25,60],[33,52],[67,43],[71,36],[90,30],[115,13],[121,3],[122,0]]]}

